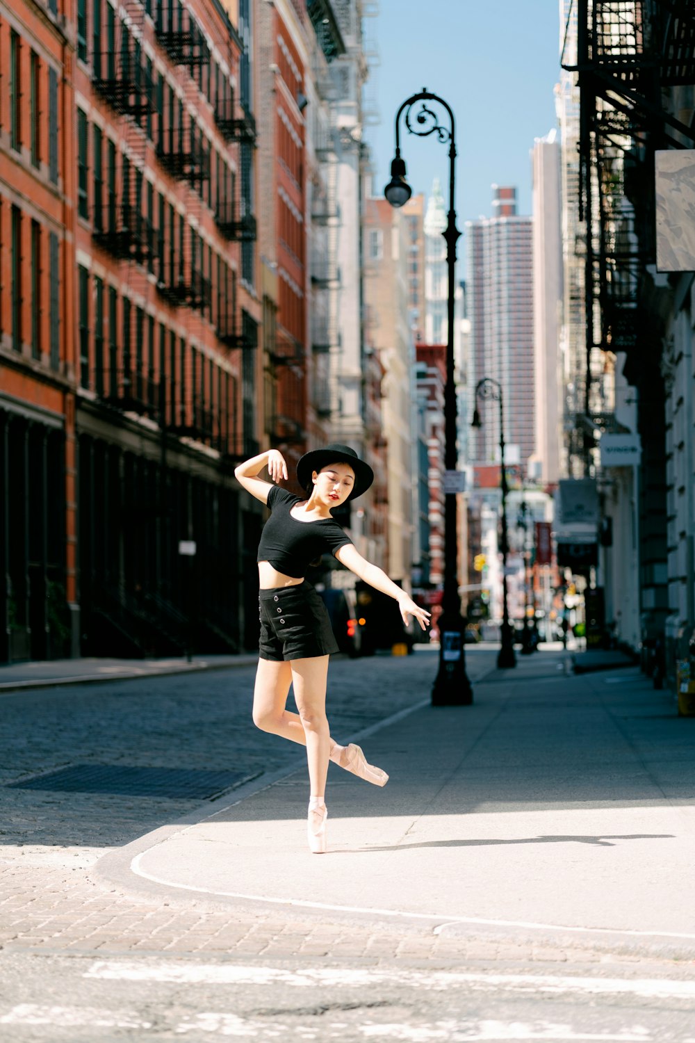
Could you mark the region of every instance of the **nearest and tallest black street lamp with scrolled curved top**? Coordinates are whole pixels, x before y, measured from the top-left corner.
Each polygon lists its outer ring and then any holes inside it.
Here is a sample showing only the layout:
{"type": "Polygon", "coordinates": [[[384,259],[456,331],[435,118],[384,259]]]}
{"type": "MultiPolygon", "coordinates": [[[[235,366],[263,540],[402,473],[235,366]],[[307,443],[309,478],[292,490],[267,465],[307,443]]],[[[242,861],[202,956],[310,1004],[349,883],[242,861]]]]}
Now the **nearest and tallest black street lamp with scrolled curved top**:
{"type": "Polygon", "coordinates": [[[449,292],[447,300],[446,341],[446,385],[444,387],[444,591],[442,614],[439,617],[440,657],[439,670],[432,685],[432,706],[466,706],[473,702],[473,689],[466,674],[466,653],[464,647],[465,620],[461,614],[461,597],[456,576],[456,492],[460,491],[456,470],[456,388],[453,378],[453,298],[455,290],[456,241],[461,233],[456,229],[454,210],[454,161],[456,146],[454,140],[453,113],[447,102],[426,88],[407,98],[396,113],[396,154],[391,164],[391,180],[383,190],[392,207],[403,207],[411,198],[411,186],[405,179],[405,161],[400,154],[400,118],[405,112],[405,126],[408,134],[426,138],[433,134],[443,144],[449,143],[449,215],[446,242],[449,292]],[[442,126],[437,113],[426,104],[433,101],[449,115],[450,126],[442,126]],[[422,102],[415,112],[414,106],[422,102]],[[412,119],[414,120],[412,122],[412,119]]]}

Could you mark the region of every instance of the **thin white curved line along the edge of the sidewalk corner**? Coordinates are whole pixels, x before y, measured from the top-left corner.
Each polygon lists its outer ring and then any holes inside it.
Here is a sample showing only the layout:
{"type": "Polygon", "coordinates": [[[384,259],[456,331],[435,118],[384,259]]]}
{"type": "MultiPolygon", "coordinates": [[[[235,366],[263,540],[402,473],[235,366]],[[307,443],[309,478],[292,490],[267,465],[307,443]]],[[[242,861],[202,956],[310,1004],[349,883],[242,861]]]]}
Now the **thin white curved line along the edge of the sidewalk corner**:
{"type": "MultiPolygon", "coordinates": [[[[212,818],[212,816],[210,816],[212,818]]],[[[189,828],[193,829],[193,826],[189,828]]],[[[184,830],[181,830],[183,832],[184,830]]],[[[180,834],[179,834],[180,835],[180,834]]],[[[166,844],[167,841],[162,841],[166,844]]],[[[158,845],[155,845],[155,847],[158,845]]],[[[289,905],[297,908],[321,909],[326,913],[357,913],[366,916],[388,916],[394,919],[403,920],[440,920],[442,923],[435,928],[436,933],[440,933],[442,928],[453,923],[469,923],[485,927],[523,927],[526,930],[562,930],[576,935],[618,935],[624,938],[677,938],[681,942],[695,941],[695,935],[684,933],[676,930],[627,930],[622,927],[575,927],[562,923],[535,923],[526,920],[490,920],[485,917],[456,916],[449,913],[406,913],[403,909],[383,909],[371,905],[337,905],[330,902],[312,902],[304,898],[271,898],[268,895],[247,894],[243,891],[219,891],[215,888],[196,888],[192,883],[179,883],[177,880],[168,880],[164,876],[156,876],[143,869],[141,859],[144,858],[154,848],[141,851],[130,863],[130,869],[135,876],[142,876],[153,883],[162,883],[167,888],[174,888],[176,891],[192,891],[198,895],[214,895],[217,898],[241,898],[243,901],[265,902],[271,905],[289,905]]]]}

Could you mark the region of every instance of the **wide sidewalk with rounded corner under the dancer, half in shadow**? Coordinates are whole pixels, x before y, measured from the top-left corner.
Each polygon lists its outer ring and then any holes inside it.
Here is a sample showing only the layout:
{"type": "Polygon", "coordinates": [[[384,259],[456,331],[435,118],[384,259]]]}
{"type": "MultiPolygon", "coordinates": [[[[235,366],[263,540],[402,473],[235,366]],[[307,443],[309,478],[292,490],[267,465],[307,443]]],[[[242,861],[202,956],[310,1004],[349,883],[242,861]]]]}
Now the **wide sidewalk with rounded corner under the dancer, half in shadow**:
{"type": "MultiPolygon", "coordinates": [[[[250,783],[97,864],[163,900],[439,936],[552,938],[695,955],[695,728],[637,668],[519,657],[470,707],[365,738],[377,789],[330,767],[329,852],[304,838],[306,771],[250,783]]],[[[281,773],[280,773],[281,774],[281,773]]]]}

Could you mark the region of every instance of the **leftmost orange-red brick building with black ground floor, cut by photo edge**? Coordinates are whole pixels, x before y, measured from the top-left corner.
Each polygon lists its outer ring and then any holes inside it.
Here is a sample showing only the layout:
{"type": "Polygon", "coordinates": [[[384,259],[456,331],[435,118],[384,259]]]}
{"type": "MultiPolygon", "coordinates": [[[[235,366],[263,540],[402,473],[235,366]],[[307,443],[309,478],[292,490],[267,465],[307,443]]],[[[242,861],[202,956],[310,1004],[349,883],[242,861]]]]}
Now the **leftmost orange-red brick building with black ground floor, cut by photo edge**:
{"type": "Polygon", "coordinates": [[[0,3],[0,661],[66,654],[76,597],[72,55],[0,3]]]}

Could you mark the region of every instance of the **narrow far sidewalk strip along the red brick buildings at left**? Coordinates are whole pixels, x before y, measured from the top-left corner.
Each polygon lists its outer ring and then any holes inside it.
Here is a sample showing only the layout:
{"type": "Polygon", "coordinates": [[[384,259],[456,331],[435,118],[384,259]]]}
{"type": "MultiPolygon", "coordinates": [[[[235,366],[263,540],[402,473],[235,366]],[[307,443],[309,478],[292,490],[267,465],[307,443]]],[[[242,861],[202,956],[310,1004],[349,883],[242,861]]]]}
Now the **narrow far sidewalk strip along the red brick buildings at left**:
{"type": "Polygon", "coordinates": [[[249,666],[257,655],[194,655],[171,659],[47,659],[0,666],[0,694],[21,688],[49,688],[59,684],[91,684],[95,681],[124,681],[134,677],[165,677],[200,670],[249,666]]]}

